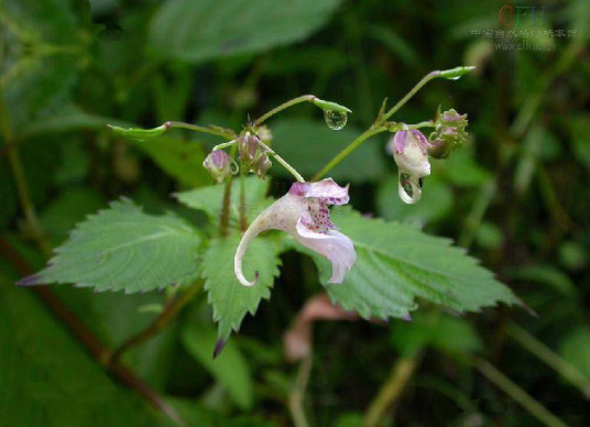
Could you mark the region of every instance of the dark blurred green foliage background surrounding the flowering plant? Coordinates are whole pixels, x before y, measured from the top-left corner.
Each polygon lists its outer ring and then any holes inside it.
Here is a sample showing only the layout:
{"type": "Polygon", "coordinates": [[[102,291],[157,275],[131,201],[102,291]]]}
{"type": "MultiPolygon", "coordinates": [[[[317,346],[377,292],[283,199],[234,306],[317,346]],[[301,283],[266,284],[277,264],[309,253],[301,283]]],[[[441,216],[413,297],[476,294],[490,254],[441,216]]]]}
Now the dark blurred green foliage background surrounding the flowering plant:
{"type": "MultiPolygon", "coordinates": [[[[500,307],[458,318],[425,306],[412,324],[319,322],[309,424],[362,425],[390,372],[406,369],[379,425],[588,425],[590,2],[3,0],[0,12],[0,425],[166,423],[106,376],[33,293],[13,288],[121,195],[203,221],[170,194],[212,183],[201,164],[215,140],[174,131],[130,141],[107,123],[240,130],[249,116],[314,94],[353,110],[342,131],[310,105],[269,121],[273,147],[310,177],[385,97],[393,105],[430,70],[458,65],[477,69],[431,81],[394,117],[428,120],[439,105],[469,114],[470,141],[433,161],[418,205],[397,197],[385,138],[332,176],[352,184],[362,212],[469,249],[538,317],[500,307]]],[[[288,176],[278,166],[271,175],[283,193],[288,176]]],[[[291,425],[298,368],[284,361],[282,336],[319,287],[301,283],[314,267],[294,252],[282,272],[272,300],[232,339],[238,362],[208,362],[205,296],[178,322],[203,324],[200,357],[178,342],[176,324],[129,354],[189,425],[291,425]]],[[[163,300],[51,292],[109,348],[163,300]]]]}

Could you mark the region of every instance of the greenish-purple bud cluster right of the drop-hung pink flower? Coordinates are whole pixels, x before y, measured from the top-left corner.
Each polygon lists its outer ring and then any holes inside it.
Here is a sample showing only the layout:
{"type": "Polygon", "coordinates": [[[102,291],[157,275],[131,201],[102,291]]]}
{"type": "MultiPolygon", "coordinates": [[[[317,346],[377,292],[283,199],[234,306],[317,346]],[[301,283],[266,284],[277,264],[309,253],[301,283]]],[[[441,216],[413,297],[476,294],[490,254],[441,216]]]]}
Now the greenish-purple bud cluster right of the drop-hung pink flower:
{"type": "Polygon", "coordinates": [[[435,118],[435,131],[429,136],[428,154],[435,158],[447,158],[457,146],[467,140],[467,114],[459,114],[454,109],[440,113],[435,118]]]}

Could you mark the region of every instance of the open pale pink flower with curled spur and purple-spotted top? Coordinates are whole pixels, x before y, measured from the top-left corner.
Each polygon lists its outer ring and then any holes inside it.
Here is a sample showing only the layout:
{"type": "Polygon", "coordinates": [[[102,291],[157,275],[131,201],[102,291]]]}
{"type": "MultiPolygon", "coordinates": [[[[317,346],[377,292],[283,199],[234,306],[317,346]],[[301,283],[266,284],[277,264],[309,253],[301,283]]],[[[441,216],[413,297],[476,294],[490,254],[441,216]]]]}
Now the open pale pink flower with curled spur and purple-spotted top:
{"type": "Polygon", "coordinates": [[[354,265],[357,253],[352,241],[330,221],[329,205],[346,205],[349,201],[348,185],[340,187],[332,178],[318,183],[294,183],[288,193],[271,205],[245,230],[233,260],[236,276],[244,286],[253,286],[242,272],[242,260],[248,245],[262,231],[282,230],[325,258],[332,265],[328,283],[342,283],[345,274],[354,265]]]}

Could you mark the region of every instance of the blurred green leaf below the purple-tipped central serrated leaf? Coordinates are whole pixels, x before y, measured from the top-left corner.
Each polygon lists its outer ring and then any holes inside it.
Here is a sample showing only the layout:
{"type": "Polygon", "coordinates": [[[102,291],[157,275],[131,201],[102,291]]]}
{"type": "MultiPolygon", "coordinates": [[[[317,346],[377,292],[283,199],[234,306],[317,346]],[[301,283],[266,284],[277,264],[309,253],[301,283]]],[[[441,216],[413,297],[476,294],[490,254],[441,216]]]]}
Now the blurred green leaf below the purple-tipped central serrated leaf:
{"type": "Polygon", "coordinates": [[[217,341],[215,329],[194,321],[185,324],[182,340],[186,350],[221,384],[241,409],[252,407],[252,375],[236,341],[227,342],[223,351],[214,359],[212,351],[217,341]]]}

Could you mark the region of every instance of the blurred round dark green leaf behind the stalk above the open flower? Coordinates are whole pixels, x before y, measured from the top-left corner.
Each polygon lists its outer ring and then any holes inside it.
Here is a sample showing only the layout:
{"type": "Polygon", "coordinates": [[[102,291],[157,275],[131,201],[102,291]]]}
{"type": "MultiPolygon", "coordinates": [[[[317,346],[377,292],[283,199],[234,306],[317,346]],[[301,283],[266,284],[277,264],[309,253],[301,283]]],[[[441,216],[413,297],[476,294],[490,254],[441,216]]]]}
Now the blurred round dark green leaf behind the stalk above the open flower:
{"type": "MultiPolygon", "coordinates": [[[[271,124],[272,147],[295,167],[304,177],[310,177],[332,157],[350,144],[362,130],[349,124],[332,131],[326,123],[309,119],[277,119],[271,124]]],[[[375,180],[384,173],[385,152],[378,140],[361,145],[342,163],[330,171],[335,180],[360,183],[375,180]]],[[[391,160],[393,162],[393,158],[391,160]]],[[[291,174],[276,162],[270,172],[274,176],[291,174]]]]}

